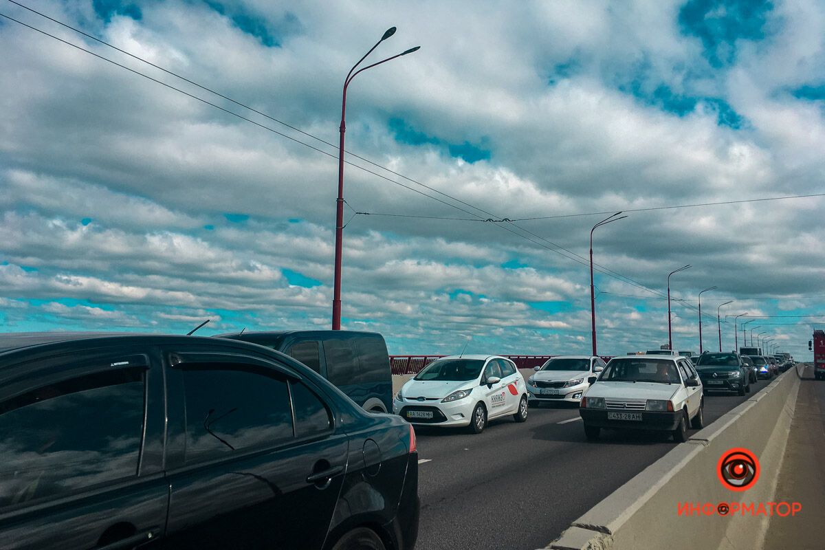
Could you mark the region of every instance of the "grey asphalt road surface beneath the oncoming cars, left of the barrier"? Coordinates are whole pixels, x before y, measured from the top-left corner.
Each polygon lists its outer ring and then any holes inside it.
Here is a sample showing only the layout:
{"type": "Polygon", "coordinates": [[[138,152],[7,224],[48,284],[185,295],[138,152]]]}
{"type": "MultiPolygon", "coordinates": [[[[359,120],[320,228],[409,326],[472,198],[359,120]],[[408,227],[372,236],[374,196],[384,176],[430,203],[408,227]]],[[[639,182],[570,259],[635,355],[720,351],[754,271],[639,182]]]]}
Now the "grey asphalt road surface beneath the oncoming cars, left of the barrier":
{"type": "MultiPolygon", "coordinates": [[[[706,395],[705,423],[752,393],[706,395]]],[[[523,424],[491,421],[479,435],[417,427],[417,550],[544,548],[675,445],[667,435],[615,430],[589,442],[577,419],[577,408],[553,403],[530,408],[523,424]]]]}

